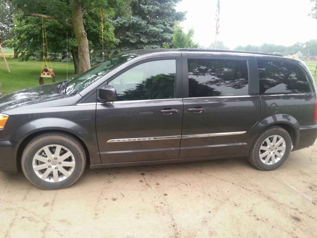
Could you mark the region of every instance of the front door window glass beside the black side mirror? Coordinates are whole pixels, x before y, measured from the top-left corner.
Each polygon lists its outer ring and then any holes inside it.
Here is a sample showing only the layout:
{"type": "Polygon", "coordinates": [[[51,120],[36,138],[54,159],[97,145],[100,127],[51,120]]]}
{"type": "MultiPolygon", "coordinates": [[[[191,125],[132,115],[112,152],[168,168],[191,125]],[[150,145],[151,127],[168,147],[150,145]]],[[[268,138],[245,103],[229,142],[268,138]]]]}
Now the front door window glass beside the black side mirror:
{"type": "Polygon", "coordinates": [[[139,64],[113,79],[118,101],[167,99],[175,96],[175,60],[139,64]]]}

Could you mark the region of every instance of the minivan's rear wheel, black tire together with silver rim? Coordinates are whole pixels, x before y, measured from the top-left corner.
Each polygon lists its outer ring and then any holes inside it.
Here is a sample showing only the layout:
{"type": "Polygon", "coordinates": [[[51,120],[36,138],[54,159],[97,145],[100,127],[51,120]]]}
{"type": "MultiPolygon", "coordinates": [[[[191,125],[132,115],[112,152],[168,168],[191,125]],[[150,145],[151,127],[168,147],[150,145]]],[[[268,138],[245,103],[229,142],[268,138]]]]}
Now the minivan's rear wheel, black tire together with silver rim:
{"type": "Polygon", "coordinates": [[[288,132],[279,126],[273,126],[258,136],[251,147],[249,162],[257,169],[273,170],[287,160],[291,149],[292,139],[288,132]],[[281,138],[284,141],[280,141],[281,138]]]}

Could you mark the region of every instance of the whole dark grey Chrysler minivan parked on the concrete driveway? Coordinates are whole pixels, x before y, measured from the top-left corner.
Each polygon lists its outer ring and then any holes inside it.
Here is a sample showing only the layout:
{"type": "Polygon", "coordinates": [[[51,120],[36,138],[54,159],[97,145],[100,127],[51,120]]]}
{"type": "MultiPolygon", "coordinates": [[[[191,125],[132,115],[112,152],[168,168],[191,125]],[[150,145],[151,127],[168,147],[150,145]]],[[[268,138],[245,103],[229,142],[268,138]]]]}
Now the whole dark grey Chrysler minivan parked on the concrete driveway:
{"type": "Polygon", "coordinates": [[[317,137],[305,63],[258,52],[120,53],[78,77],[0,97],[0,170],[40,188],[90,168],[248,157],[261,170],[317,137]]]}

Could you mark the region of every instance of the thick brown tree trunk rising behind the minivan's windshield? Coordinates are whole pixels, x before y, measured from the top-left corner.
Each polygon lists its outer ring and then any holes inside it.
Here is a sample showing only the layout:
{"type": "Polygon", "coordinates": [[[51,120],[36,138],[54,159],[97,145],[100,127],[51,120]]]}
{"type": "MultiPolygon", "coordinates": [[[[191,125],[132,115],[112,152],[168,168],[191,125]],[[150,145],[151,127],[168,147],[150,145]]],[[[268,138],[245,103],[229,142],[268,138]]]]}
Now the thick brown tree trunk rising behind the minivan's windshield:
{"type": "Polygon", "coordinates": [[[74,34],[78,44],[78,55],[81,73],[90,69],[90,58],[89,58],[89,46],[87,33],[85,31],[82,11],[81,11],[81,1],[73,0],[70,4],[72,13],[72,25],[74,34]]]}

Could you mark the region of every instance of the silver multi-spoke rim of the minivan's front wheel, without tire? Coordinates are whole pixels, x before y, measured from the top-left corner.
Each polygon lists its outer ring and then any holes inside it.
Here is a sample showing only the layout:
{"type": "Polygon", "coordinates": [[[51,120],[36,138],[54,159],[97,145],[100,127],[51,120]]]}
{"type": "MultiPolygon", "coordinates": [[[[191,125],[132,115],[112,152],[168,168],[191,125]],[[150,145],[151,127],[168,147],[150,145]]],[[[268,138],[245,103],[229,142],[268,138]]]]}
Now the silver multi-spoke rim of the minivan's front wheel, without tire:
{"type": "Polygon", "coordinates": [[[73,153],[61,145],[48,145],[33,157],[35,174],[47,182],[60,182],[69,177],[75,168],[73,153]]]}

